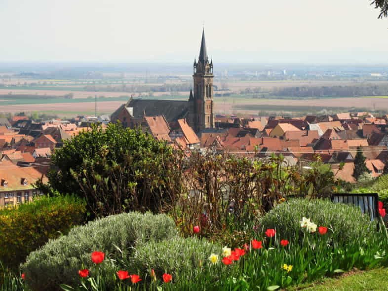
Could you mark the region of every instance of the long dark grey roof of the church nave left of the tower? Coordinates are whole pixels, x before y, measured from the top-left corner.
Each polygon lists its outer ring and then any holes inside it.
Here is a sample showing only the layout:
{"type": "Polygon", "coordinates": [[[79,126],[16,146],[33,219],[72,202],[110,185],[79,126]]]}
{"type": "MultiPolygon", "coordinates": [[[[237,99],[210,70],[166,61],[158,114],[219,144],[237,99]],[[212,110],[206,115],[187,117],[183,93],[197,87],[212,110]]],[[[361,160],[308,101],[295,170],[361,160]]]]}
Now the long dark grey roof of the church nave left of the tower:
{"type": "Polygon", "coordinates": [[[133,108],[136,119],[146,116],[164,115],[167,121],[183,119],[189,113],[188,101],[132,99],[127,107],[133,108]]]}

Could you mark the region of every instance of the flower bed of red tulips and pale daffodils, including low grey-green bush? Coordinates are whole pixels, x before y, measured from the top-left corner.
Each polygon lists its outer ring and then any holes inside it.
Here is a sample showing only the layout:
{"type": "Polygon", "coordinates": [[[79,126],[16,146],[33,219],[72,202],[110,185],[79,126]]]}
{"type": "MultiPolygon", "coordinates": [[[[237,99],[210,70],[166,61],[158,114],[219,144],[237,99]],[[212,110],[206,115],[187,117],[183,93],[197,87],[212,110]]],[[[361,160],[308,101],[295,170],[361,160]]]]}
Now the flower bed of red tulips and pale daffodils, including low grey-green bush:
{"type": "MultiPolygon", "coordinates": [[[[341,221],[326,224],[317,214],[301,216],[297,221],[288,218],[292,223],[289,227],[297,229],[294,236],[283,231],[283,226],[274,225],[262,230],[256,227],[250,241],[234,249],[198,239],[201,229],[194,226],[193,237],[146,241],[138,244],[131,253],[118,250],[105,254],[103,249],[95,250],[88,254],[88,262],[85,262],[89,267],[79,264],[78,272],[74,272],[78,283],[61,287],[67,291],[276,290],[354,267],[370,269],[388,265],[386,232],[377,231],[376,224],[363,217],[356,208],[307,200],[290,202],[282,207],[300,210],[301,204],[310,206],[309,209],[318,206],[335,210],[349,208],[349,215],[354,219],[359,216],[353,223],[365,225],[347,232],[347,224],[341,221]],[[362,236],[354,239],[352,235],[357,231],[362,236]],[[344,233],[339,235],[338,232],[344,233]],[[352,239],[346,240],[349,236],[352,239]]],[[[279,206],[273,212],[280,210],[279,206]]],[[[325,212],[331,215],[331,212],[325,212]]],[[[287,216],[285,211],[283,214],[287,216]]],[[[273,215],[268,214],[269,217],[273,215]]],[[[30,275],[24,276],[27,285],[32,279],[30,275]]]]}

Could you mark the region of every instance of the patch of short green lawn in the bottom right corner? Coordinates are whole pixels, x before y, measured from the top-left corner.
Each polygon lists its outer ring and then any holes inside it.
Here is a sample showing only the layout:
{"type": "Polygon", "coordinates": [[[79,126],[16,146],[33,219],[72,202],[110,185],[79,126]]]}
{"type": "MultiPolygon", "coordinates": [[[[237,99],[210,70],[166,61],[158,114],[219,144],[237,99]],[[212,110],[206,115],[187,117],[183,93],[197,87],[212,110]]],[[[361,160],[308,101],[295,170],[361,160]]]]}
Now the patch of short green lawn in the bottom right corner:
{"type": "Polygon", "coordinates": [[[388,268],[373,269],[286,289],[287,291],[387,291],[388,268]]]}

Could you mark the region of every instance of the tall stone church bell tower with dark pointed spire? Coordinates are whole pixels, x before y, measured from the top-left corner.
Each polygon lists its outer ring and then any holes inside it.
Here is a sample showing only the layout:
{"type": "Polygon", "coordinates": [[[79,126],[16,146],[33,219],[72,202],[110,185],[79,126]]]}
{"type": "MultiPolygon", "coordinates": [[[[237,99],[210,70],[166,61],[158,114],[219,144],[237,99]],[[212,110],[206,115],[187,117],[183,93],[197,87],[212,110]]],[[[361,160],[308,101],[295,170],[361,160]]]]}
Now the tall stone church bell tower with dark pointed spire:
{"type": "Polygon", "coordinates": [[[190,96],[194,103],[193,124],[195,132],[214,128],[213,77],[213,60],[209,63],[205,32],[202,30],[198,62],[194,60],[194,96],[190,96]]]}

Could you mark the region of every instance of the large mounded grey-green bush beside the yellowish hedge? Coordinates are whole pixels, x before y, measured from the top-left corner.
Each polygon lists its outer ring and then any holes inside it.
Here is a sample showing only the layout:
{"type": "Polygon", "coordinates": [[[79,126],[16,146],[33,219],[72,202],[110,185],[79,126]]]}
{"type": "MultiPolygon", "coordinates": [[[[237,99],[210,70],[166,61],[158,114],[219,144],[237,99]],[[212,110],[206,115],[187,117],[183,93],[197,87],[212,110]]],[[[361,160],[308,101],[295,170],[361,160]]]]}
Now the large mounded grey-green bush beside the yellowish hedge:
{"type": "MultiPolygon", "coordinates": [[[[138,244],[170,239],[177,235],[174,221],[165,215],[128,213],[101,218],[73,228],[67,236],[49,241],[31,253],[21,266],[32,290],[60,290],[59,284],[78,282],[78,270],[91,268],[90,254],[104,252],[113,257],[138,244]],[[116,248],[117,247],[117,248],[116,248]]],[[[116,261],[104,261],[101,272],[115,274],[116,261]]],[[[116,270],[117,271],[117,270],[116,270]]],[[[109,276],[112,280],[115,276],[109,276]]]]}

